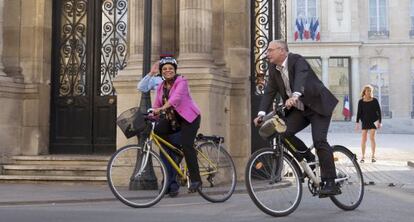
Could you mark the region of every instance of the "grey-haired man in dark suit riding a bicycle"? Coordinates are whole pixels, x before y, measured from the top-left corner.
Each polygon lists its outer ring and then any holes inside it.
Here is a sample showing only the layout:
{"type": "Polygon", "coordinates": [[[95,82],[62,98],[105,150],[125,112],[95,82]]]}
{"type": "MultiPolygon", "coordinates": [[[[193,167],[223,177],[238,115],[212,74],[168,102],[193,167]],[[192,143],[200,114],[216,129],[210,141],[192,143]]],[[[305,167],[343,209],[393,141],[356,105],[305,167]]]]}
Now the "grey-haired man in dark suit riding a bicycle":
{"type": "MultiPolygon", "coordinates": [[[[271,41],[266,55],[270,63],[269,81],[264,90],[258,116],[254,119],[255,125],[261,124],[276,95],[280,94],[287,108],[287,129],[282,134],[283,138],[292,143],[308,162],[313,161],[314,155],[303,141],[295,136],[310,124],[313,143],[320,161],[321,179],[324,182],[320,197],[340,194],[341,190],[335,184],[336,170],[332,148],[327,142],[332,112],[338,100],[318,79],[305,58],[289,53],[285,41],[271,41]]],[[[303,158],[302,155],[296,154],[295,157],[303,158]]]]}

